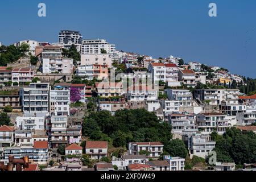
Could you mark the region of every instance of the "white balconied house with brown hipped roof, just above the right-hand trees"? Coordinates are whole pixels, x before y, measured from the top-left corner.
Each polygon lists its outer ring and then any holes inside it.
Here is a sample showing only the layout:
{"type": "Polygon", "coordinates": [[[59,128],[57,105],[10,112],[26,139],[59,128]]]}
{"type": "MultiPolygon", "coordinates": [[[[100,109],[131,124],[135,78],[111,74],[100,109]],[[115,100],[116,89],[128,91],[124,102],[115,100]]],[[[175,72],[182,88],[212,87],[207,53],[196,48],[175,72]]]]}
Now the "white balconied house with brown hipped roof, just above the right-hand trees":
{"type": "Polygon", "coordinates": [[[224,134],[226,128],[231,127],[229,120],[223,113],[199,113],[196,116],[196,122],[203,134],[211,134],[213,131],[224,134]]]}

